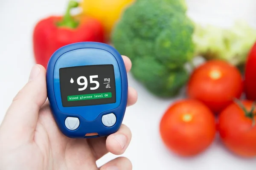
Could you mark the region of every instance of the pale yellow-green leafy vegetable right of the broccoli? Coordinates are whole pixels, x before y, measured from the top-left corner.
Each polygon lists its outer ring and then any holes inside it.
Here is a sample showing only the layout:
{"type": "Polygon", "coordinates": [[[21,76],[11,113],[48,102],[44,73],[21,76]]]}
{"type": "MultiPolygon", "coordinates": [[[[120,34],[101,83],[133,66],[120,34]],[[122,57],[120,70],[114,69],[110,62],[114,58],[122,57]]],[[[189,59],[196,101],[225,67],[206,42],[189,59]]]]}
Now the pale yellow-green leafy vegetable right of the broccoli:
{"type": "Polygon", "coordinates": [[[193,41],[195,55],[206,59],[224,59],[232,65],[243,66],[256,41],[256,29],[242,21],[231,28],[195,24],[193,41]]]}

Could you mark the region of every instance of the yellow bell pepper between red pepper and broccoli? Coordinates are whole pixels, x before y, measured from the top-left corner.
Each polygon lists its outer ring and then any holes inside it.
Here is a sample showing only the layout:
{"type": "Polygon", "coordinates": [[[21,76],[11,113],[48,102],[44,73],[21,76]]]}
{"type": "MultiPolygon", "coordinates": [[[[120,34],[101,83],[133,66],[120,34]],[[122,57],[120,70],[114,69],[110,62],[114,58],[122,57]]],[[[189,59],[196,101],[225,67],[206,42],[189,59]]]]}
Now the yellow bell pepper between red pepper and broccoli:
{"type": "Polygon", "coordinates": [[[134,0],[82,0],[82,13],[97,18],[104,26],[109,39],[113,26],[119,20],[124,8],[134,0]]]}

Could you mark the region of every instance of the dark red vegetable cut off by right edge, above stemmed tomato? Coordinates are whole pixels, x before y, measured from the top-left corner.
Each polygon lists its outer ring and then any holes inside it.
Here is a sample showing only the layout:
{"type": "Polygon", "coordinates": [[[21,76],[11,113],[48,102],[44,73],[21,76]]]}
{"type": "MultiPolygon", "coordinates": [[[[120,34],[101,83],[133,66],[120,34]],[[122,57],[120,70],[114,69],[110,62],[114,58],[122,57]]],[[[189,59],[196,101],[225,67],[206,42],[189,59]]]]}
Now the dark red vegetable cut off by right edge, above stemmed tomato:
{"type": "Polygon", "coordinates": [[[256,43],[248,54],[244,74],[246,98],[254,101],[256,100],[256,43]]]}

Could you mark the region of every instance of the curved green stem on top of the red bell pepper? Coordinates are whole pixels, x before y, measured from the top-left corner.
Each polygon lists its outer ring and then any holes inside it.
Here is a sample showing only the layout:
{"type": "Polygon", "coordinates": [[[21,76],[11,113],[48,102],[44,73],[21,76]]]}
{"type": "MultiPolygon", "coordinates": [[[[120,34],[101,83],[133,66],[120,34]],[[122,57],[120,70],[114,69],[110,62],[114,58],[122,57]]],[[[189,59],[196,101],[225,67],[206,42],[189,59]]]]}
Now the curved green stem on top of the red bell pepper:
{"type": "Polygon", "coordinates": [[[79,25],[79,22],[74,20],[74,18],[70,15],[70,10],[72,8],[76,8],[79,6],[79,3],[75,0],[70,0],[67,6],[66,13],[62,20],[57,23],[57,26],[76,28],[79,25]]]}

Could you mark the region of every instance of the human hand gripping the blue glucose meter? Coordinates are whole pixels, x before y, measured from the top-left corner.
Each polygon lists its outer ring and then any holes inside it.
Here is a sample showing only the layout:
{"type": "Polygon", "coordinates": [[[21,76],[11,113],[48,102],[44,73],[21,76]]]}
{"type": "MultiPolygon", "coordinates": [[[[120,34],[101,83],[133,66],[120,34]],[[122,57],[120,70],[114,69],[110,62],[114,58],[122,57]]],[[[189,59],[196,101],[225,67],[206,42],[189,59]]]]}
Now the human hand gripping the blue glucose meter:
{"type": "MultiPolygon", "coordinates": [[[[131,61],[122,56],[127,72],[131,61]]],[[[13,99],[0,126],[0,170],[131,170],[125,157],[96,166],[96,160],[111,152],[120,155],[131,141],[125,125],[108,137],[70,139],[58,129],[47,99],[46,70],[32,68],[29,82],[13,99]]],[[[128,89],[127,106],[137,101],[128,89]]]]}

